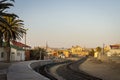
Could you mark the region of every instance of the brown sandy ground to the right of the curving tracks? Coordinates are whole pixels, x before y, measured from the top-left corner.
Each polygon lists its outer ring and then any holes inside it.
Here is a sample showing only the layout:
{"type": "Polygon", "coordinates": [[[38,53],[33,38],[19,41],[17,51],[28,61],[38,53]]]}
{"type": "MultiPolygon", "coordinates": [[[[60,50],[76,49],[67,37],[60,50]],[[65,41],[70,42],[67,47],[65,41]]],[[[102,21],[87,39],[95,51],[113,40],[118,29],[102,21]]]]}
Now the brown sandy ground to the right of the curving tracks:
{"type": "Polygon", "coordinates": [[[91,57],[81,64],[79,68],[103,80],[120,80],[120,64],[101,62],[91,57]]]}

